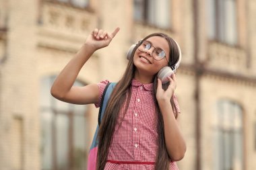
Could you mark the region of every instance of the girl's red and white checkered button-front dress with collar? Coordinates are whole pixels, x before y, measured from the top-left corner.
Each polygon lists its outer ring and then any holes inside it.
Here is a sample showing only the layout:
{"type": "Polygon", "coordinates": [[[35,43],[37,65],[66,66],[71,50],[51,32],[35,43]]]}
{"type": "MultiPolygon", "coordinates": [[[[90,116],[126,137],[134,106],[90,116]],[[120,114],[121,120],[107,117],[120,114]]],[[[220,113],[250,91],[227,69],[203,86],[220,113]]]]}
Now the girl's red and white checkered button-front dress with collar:
{"type": "MultiPolygon", "coordinates": [[[[108,81],[98,83],[100,97],[96,107],[100,106],[102,93],[108,81]]],[[[108,149],[108,161],[104,170],[113,169],[154,169],[158,151],[158,117],[155,112],[154,85],[131,82],[131,101],[127,113],[121,109],[113,139],[108,149]],[[125,117],[123,118],[123,115],[125,117]],[[123,120],[122,120],[123,118],[123,120]]],[[[174,95],[173,112],[179,113],[179,104],[174,95]]],[[[179,170],[176,162],[170,162],[171,170],[179,170]]]]}

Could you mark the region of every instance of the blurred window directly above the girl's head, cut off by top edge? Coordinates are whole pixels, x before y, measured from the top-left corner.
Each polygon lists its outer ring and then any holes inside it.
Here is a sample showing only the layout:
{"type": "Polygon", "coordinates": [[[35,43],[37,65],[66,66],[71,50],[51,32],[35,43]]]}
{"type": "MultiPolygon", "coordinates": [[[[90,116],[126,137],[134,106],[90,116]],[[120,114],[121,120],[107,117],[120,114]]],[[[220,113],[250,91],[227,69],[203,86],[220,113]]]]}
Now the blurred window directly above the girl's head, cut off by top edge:
{"type": "Polygon", "coordinates": [[[170,0],[133,0],[133,18],[136,22],[170,28],[170,0]]]}

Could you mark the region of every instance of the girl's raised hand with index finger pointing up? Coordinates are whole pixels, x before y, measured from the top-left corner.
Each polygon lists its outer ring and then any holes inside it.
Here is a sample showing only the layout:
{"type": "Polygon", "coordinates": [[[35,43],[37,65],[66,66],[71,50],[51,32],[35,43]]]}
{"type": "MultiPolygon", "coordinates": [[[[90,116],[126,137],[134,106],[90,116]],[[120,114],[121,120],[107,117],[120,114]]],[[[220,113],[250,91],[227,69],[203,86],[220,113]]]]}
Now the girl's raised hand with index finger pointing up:
{"type": "Polygon", "coordinates": [[[117,27],[112,34],[109,34],[105,30],[98,30],[95,28],[94,31],[88,36],[86,39],[86,45],[91,46],[94,50],[98,50],[100,48],[104,48],[108,46],[111,40],[115,37],[117,32],[119,32],[120,28],[117,27]]]}

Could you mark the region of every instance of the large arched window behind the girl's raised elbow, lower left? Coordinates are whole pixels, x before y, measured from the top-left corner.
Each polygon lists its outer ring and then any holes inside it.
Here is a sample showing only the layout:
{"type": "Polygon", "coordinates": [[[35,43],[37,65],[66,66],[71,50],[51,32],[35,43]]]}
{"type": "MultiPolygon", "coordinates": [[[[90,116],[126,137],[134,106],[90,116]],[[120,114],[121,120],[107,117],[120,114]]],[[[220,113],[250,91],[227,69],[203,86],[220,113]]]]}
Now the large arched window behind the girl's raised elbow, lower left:
{"type": "MultiPolygon", "coordinates": [[[[89,142],[86,105],[73,105],[52,97],[54,78],[46,77],[41,82],[41,167],[42,170],[84,170],[89,142]]],[[[74,85],[82,83],[76,81],[74,85]]]]}

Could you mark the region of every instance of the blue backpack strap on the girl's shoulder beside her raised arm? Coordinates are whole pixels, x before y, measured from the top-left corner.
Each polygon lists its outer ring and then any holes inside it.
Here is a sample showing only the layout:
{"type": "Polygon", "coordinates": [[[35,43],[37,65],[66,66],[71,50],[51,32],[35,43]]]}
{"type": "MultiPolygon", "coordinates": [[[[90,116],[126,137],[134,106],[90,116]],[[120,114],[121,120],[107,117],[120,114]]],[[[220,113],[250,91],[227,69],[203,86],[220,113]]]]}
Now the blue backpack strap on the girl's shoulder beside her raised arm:
{"type": "Polygon", "coordinates": [[[98,126],[100,126],[100,122],[104,116],[106,105],[108,103],[108,99],[117,83],[108,83],[102,93],[102,98],[100,101],[100,110],[98,112],[98,126]]]}

